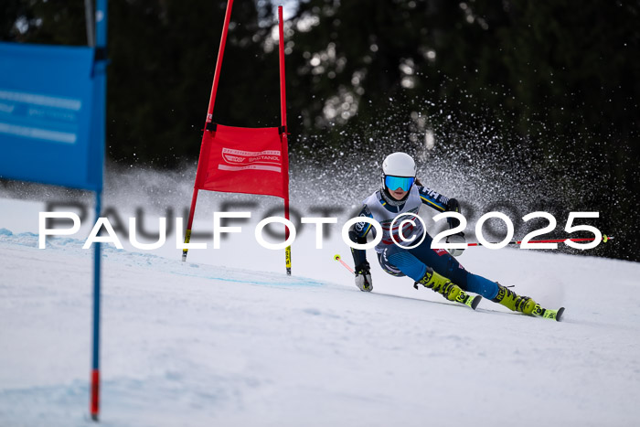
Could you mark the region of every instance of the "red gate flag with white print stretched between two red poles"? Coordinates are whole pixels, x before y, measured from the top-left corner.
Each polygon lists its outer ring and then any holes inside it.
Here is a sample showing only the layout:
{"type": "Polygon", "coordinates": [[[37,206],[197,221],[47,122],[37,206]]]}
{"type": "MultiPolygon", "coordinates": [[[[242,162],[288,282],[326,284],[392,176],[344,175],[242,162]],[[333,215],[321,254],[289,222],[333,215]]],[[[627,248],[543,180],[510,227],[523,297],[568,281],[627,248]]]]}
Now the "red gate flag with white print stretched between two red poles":
{"type": "Polygon", "coordinates": [[[202,138],[198,189],[287,197],[283,173],[288,167],[279,128],[208,127],[212,130],[202,138]]]}

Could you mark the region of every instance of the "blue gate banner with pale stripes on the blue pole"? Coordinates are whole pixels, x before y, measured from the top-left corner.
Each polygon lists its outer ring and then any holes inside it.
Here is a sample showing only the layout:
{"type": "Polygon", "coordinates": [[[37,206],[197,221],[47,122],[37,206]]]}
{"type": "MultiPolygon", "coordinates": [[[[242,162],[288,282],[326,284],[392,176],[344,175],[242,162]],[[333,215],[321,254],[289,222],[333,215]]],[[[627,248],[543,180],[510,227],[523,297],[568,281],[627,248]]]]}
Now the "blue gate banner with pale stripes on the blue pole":
{"type": "Polygon", "coordinates": [[[101,190],[104,65],[95,51],[0,43],[0,177],[101,190]]]}

